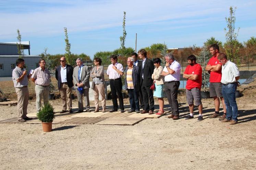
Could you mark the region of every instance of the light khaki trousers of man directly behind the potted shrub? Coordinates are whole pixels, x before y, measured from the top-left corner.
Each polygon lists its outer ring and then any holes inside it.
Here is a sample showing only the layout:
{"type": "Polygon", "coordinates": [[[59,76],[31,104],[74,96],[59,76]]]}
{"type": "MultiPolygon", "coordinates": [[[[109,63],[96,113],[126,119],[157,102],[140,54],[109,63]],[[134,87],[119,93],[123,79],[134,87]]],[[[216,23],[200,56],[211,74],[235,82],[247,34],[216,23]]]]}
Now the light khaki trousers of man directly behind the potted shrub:
{"type": "Polygon", "coordinates": [[[41,109],[41,100],[44,100],[44,105],[49,102],[49,86],[35,86],[36,90],[36,110],[41,109]]]}

